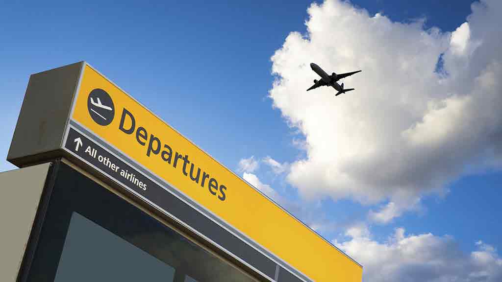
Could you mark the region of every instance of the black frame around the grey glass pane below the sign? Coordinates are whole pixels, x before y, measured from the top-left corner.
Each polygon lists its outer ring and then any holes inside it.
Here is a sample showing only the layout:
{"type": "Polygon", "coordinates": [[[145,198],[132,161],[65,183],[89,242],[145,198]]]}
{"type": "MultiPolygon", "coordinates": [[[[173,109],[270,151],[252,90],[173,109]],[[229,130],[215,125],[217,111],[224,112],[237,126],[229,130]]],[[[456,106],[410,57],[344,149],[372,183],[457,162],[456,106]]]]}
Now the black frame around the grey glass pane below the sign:
{"type": "MultiPolygon", "coordinates": [[[[174,281],[184,281],[185,275],[204,281],[223,281],[221,273],[239,274],[240,281],[254,281],[234,265],[210,253],[181,233],[160,222],[132,203],[71,168],[55,161],[49,171],[32,234],[17,281],[54,281],[71,215],[77,212],[95,224],[148,252],[176,268],[174,281]],[[139,240],[135,236],[147,234],[139,240]],[[150,235],[148,235],[150,234],[150,235]],[[147,239],[148,238],[148,239],[147,239]],[[221,265],[220,274],[208,276],[206,270],[194,270],[194,261],[172,260],[174,256],[159,252],[156,247],[172,242],[186,247],[187,257],[201,259],[206,267],[221,265]],[[169,261],[169,260],[172,261],[169,261]],[[191,262],[191,265],[188,263],[191,262]],[[194,272],[195,271],[195,272],[194,272]],[[206,275],[206,276],[204,276],[206,275]]],[[[199,264],[201,261],[198,261],[199,264]]],[[[199,265],[197,264],[197,265],[199,265]]]]}

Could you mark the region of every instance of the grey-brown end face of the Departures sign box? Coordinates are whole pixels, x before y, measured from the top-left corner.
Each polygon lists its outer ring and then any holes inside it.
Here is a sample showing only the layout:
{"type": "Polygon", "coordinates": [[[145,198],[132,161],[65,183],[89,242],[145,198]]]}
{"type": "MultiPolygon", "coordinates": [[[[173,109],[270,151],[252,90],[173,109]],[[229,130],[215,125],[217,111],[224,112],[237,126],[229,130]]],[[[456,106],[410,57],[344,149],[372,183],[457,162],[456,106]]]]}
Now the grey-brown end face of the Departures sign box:
{"type": "Polygon", "coordinates": [[[61,148],[83,62],[30,76],[7,160],[18,167],[61,148]]]}

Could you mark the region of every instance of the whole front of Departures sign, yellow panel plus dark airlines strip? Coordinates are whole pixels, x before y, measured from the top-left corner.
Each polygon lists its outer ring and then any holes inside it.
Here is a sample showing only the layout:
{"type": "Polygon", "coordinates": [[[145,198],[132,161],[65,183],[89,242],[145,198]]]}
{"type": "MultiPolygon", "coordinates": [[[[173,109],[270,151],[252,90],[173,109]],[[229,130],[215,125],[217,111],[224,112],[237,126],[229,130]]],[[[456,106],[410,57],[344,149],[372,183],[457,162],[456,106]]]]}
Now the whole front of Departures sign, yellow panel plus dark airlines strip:
{"type": "MultiPolygon", "coordinates": [[[[245,253],[264,255],[295,279],[361,280],[359,264],[85,62],[68,115],[61,150],[166,214],[163,199],[176,196],[230,232],[228,239],[201,233],[230,255],[245,260],[235,254],[242,248],[230,243],[235,237],[252,250],[245,253]]],[[[258,268],[278,280],[279,268],[258,268]]]]}

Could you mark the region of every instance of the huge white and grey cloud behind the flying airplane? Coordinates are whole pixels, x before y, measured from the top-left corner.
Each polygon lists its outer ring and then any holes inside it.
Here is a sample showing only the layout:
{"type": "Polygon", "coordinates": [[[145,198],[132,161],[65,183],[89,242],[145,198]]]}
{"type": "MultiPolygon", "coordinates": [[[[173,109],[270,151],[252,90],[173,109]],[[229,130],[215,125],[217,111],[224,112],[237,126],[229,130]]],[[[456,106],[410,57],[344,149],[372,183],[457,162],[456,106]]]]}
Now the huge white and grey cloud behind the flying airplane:
{"type": "Polygon", "coordinates": [[[388,222],[464,173],[500,168],[501,12],[501,1],[475,3],[443,32],[348,2],[313,4],[307,34],[291,33],[272,57],[270,97],[305,136],[306,157],[288,181],[306,198],[387,199],[370,217],[388,222]],[[356,90],[306,92],[318,79],[311,62],[328,73],[362,70],[342,81],[356,90]]]}

